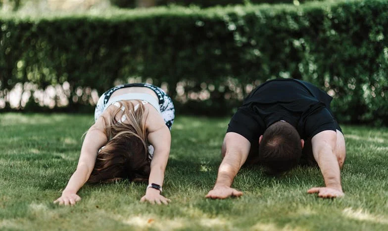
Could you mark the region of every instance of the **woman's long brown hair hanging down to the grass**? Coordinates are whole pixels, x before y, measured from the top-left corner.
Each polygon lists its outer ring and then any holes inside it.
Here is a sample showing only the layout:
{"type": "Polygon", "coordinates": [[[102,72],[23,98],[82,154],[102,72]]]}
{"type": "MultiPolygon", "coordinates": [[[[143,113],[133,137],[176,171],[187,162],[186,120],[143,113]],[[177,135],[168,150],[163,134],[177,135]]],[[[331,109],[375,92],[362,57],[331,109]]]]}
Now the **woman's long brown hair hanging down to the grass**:
{"type": "Polygon", "coordinates": [[[139,101],[135,111],[129,101],[120,101],[120,106],[108,116],[104,116],[105,135],[108,142],[102,148],[96,159],[95,167],[88,182],[113,182],[123,178],[131,181],[148,180],[150,160],[147,151],[147,136],[145,130],[145,108],[139,101]],[[124,106],[122,115],[125,122],[116,120],[124,106]]]}

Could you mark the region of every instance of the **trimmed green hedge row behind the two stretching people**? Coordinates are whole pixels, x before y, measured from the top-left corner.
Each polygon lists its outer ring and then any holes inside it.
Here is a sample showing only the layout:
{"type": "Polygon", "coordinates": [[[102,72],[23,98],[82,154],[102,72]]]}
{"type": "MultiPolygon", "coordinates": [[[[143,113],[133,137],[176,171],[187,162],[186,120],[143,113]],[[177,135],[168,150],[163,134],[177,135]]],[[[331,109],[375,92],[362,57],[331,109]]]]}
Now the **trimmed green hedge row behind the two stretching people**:
{"type": "Polygon", "coordinates": [[[332,94],[340,122],[388,125],[386,0],[0,16],[0,26],[0,91],[67,81],[73,107],[77,87],[101,93],[140,76],[167,83],[180,112],[226,115],[266,79],[293,77],[332,94]]]}

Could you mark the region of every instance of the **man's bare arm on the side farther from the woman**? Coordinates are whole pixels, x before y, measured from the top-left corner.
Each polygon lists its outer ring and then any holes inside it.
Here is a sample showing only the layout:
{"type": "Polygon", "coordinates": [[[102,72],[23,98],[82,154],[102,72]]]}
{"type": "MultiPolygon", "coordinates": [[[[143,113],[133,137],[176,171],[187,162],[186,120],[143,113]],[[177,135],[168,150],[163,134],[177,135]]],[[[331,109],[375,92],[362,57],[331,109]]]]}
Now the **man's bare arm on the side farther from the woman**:
{"type": "Polygon", "coordinates": [[[337,132],[322,131],[311,139],[314,158],[321,169],[326,187],[311,188],[308,193],[318,193],[319,197],[343,196],[340,166],[337,152],[337,132]]]}

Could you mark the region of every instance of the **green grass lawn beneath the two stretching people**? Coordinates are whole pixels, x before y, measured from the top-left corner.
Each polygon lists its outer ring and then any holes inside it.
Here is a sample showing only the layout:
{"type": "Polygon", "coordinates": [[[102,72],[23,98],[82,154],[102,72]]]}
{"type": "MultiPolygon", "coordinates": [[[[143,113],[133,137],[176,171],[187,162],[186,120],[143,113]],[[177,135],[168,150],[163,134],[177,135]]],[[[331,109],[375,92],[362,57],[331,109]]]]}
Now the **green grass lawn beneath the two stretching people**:
{"type": "Polygon", "coordinates": [[[342,126],[345,197],[307,194],[319,169],[268,177],[242,169],[240,198],[205,199],[212,189],[228,118],[178,116],[163,194],[140,203],[145,184],[86,185],[75,206],[53,204],[76,168],[93,116],[0,114],[0,230],[388,230],[388,129],[342,126]]]}

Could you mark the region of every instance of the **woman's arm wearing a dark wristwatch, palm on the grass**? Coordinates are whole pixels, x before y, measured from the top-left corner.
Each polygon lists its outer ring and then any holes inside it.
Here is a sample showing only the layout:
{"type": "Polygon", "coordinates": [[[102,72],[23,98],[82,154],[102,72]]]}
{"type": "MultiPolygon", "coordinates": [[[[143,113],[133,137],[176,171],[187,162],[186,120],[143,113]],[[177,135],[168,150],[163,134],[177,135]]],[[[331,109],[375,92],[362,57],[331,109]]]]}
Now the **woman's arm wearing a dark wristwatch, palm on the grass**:
{"type": "MultiPolygon", "coordinates": [[[[153,157],[151,161],[151,171],[149,173],[148,184],[163,186],[164,171],[166,169],[168,156],[170,154],[171,134],[160,115],[148,115],[148,142],[153,146],[153,157]],[[152,119],[150,119],[152,118],[152,119]]],[[[147,188],[145,196],[141,201],[149,201],[154,204],[168,204],[169,199],[160,195],[160,191],[154,188],[147,188]]]]}

